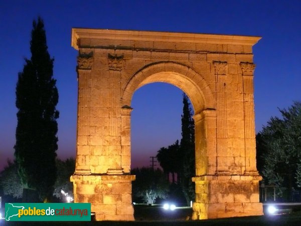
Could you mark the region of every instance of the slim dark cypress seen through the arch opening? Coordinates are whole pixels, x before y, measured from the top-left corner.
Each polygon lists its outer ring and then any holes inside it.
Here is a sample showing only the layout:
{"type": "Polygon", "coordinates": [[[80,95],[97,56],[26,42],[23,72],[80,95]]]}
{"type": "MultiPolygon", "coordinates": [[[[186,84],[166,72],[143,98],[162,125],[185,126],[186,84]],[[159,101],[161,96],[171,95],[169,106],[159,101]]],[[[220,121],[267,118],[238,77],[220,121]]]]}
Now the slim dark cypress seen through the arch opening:
{"type": "Polygon", "coordinates": [[[194,200],[195,186],[191,178],[195,175],[195,132],[192,109],[188,96],[183,94],[182,139],[179,149],[180,184],[187,204],[194,200]]]}

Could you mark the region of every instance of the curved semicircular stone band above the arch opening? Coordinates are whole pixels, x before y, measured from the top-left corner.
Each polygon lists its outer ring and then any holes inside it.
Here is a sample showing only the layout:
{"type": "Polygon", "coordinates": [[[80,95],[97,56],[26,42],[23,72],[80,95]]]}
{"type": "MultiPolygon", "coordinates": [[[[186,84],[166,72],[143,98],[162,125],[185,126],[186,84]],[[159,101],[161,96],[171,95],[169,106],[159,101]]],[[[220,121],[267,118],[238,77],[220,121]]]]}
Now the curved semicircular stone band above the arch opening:
{"type": "Polygon", "coordinates": [[[128,80],[122,94],[122,106],[130,106],[134,92],[149,83],[165,82],[183,90],[190,98],[195,114],[215,109],[212,91],[205,79],[190,67],[175,62],[149,64],[128,80]]]}

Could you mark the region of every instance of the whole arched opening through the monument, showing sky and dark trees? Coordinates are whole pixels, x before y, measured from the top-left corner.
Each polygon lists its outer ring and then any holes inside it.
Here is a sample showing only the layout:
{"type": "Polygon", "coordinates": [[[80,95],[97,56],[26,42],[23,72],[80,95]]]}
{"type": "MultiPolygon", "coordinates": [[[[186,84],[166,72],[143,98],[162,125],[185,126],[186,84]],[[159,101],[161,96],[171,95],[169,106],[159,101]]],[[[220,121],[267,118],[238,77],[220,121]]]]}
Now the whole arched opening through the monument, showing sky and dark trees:
{"type": "MultiPolygon", "coordinates": [[[[172,201],[177,206],[190,206],[194,200],[191,177],[195,175],[195,145],[194,129],[189,126],[194,122],[193,110],[186,111],[189,121],[184,123],[182,140],[183,91],[162,82],[143,85],[134,92],[131,107],[131,174],[136,175],[132,182],[133,202],[172,201]],[[184,173],[189,176],[180,176],[184,173]]],[[[193,109],[191,104],[187,107],[193,109]]],[[[136,217],[140,207],[134,205],[136,217]]]]}

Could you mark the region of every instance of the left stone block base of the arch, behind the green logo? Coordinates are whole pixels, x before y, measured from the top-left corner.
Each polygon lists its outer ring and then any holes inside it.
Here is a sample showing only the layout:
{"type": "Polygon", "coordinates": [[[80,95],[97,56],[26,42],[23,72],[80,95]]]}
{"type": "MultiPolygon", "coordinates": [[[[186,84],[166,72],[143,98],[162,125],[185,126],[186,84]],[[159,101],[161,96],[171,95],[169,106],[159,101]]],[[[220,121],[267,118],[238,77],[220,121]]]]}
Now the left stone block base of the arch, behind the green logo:
{"type": "Polygon", "coordinates": [[[74,202],[90,202],[96,220],[134,220],[131,181],[134,175],[71,176],[74,202]]]}

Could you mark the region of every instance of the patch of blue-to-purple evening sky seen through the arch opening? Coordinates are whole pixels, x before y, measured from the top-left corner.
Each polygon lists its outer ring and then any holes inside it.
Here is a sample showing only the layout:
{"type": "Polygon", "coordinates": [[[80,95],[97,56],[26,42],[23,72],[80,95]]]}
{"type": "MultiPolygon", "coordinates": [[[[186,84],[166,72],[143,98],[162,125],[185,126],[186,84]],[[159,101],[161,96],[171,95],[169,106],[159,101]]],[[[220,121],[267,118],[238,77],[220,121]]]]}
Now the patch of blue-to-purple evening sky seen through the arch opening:
{"type": "Polygon", "coordinates": [[[181,141],[182,102],[183,91],[167,83],[147,84],[135,91],[131,102],[131,169],[150,167],[150,156],[181,141]]]}

